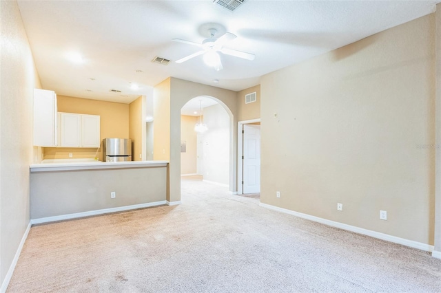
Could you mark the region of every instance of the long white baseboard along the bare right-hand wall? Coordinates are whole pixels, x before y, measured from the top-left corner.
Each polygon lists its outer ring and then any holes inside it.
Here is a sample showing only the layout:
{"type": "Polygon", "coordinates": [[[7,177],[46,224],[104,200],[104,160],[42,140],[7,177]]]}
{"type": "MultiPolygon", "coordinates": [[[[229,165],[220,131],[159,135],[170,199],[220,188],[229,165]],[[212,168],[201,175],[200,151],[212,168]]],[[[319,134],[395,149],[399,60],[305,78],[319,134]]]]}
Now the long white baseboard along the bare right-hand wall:
{"type": "MultiPolygon", "coordinates": [[[[356,232],[358,234],[367,235],[367,236],[370,236],[373,238],[378,238],[378,239],[382,239],[385,241],[398,243],[398,244],[401,244],[404,246],[409,246],[411,248],[418,248],[420,250],[433,252],[433,246],[426,244],[426,243],[421,243],[421,242],[417,242],[417,241],[413,241],[413,240],[409,240],[409,239],[404,239],[404,238],[400,238],[400,237],[396,237],[396,236],[392,236],[392,235],[388,235],[388,234],[384,234],[384,233],[380,233],[380,232],[376,232],[376,231],[372,231],[372,230],[367,230],[364,228],[359,228],[356,226],[342,224],[342,223],[339,223],[338,221],[331,221],[328,219],[322,219],[320,217],[311,216],[311,215],[307,215],[307,214],[303,214],[303,213],[298,213],[298,212],[295,212],[294,210],[287,210],[286,208],[279,208],[278,206],[271,206],[270,204],[260,203],[259,205],[263,206],[264,208],[269,208],[271,210],[277,210],[278,212],[287,213],[289,215],[300,217],[302,219],[309,219],[311,221],[316,221],[321,224],[333,226],[333,227],[340,228],[343,230],[348,230],[351,232],[356,232]]],[[[438,257],[441,258],[441,252],[436,252],[435,255],[438,255],[438,257]]],[[[432,253],[432,256],[433,256],[433,253],[432,253]]]]}

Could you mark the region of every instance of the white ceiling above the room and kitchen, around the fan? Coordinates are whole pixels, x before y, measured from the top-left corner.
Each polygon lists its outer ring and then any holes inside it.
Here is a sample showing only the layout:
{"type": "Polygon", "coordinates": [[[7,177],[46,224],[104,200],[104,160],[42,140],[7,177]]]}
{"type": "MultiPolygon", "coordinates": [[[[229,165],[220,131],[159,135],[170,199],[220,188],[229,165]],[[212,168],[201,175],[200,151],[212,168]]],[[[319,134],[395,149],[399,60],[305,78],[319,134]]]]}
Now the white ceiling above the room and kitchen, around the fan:
{"type": "Polygon", "coordinates": [[[151,94],[152,87],[169,76],[246,89],[276,69],[434,12],[439,0],[249,0],[235,12],[218,8],[212,0],[18,2],[44,89],[128,103],[151,94]],[[213,22],[238,36],[225,47],[253,53],[256,59],[223,55],[219,72],[205,66],[202,56],[175,63],[199,48],[172,39],[201,43],[205,36],[199,28],[213,22]],[[65,54],[71,51],[85,62],[70,63],[65,54]],[[154,56],[172,62],[152,63],[154,56]],[[139,89],[130,89],[131,83],[139,89]]]}

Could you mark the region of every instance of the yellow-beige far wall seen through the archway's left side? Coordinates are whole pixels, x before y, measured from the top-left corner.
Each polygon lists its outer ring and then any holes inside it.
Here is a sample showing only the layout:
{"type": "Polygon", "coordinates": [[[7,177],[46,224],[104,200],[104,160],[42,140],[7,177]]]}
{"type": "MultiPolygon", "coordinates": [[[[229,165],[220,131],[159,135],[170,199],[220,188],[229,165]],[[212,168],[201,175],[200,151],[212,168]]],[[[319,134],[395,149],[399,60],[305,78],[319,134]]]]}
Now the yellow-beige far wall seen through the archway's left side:
{"type": "Polygon", "coordinates": [[[181,153],[181,174],[196,173],[196,131],[198,117],[181,115],[181,142],[185,141],[185,153],[181,153]]]}

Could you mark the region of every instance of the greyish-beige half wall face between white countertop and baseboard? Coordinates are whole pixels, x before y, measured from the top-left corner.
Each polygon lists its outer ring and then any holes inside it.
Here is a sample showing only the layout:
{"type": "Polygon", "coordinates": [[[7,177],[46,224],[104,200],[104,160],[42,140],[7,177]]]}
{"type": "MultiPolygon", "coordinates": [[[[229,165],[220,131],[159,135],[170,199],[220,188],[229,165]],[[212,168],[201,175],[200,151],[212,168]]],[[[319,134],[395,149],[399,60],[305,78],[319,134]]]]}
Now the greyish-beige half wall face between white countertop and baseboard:
{"type": "Polygon", "coordinates": [[[167,167],[34,172],[31,219],[161,202],[166,181],[167,167]]]}

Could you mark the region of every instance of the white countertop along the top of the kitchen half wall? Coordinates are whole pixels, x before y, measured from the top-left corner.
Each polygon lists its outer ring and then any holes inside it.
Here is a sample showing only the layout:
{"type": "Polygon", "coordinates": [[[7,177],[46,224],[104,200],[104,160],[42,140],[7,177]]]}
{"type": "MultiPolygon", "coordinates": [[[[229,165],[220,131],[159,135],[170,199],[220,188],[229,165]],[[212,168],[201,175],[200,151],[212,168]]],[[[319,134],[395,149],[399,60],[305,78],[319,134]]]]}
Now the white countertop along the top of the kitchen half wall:
{"type": "Polygon", "coordinates": [[[167,166],[167,161],[128,161],[128,162],[101,162],[96,160],[52,160],[41,164],[31,164],[31,172],[96,170],[96,169],[127,169],[167,166]],[[72,161],[72,162],[69,162],[72,161]]]}

